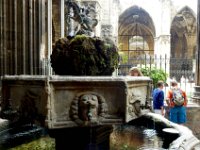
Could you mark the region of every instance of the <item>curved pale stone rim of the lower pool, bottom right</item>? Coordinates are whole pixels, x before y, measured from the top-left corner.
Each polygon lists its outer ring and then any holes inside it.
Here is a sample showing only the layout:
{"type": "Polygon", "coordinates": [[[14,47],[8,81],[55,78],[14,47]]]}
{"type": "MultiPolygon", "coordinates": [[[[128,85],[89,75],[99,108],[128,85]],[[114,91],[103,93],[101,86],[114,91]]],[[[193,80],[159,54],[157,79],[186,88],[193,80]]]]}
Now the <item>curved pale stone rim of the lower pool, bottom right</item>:
{"type": "MultiPolygon", "coordinates": [[[[159,114],[147,113],[128,123],[156,130],[163,139],[163,148],[167,150],[199,150],[200,140],[184,125],[173,123],[159,114]]],[[[142,149],[143,150],[143,149],[142,149]]],[[[158,150],[158,149],[155,149],[158,150]]]]}

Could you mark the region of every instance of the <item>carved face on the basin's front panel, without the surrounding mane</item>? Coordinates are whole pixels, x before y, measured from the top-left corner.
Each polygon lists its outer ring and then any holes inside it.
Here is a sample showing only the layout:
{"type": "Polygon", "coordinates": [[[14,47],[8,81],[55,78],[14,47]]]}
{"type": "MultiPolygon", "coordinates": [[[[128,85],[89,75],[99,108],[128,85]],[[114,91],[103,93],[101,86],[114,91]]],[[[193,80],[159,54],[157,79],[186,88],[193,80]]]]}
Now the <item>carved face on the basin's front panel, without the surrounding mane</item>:
{"type": "Polygon", "coordinates": [[[79,99],[79,117],[82,120],[96,120],[98,115],[98,98],[93,94],[85,94],[79,99]]]}

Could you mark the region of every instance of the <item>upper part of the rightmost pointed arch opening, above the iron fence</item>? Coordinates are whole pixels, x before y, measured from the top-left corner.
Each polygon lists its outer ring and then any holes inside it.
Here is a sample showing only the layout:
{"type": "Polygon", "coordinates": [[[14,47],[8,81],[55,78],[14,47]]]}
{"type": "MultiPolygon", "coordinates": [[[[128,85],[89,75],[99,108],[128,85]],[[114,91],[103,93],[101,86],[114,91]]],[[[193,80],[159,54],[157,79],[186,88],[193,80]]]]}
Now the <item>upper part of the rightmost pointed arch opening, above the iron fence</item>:
{"type": "Polygon", "coordinates": [[[194,12],[188,6],[185,6],[172,20],[170,29],[172,57],[194,58],[196,30],[197,25],[194,12]]]}

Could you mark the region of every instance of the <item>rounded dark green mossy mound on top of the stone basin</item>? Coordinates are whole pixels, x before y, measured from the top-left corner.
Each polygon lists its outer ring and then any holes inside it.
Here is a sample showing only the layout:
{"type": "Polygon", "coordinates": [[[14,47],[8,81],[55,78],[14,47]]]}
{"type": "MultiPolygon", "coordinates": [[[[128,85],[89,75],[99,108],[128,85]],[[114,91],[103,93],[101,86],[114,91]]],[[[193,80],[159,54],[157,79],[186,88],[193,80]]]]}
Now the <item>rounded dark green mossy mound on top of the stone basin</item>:
{"type": "Polygon", "coordinates": [[[51,66],[58,75],[112,75],[118,64],[118,49],[112,40],[85,35],[59,39],[51,55],[51,66]]]}

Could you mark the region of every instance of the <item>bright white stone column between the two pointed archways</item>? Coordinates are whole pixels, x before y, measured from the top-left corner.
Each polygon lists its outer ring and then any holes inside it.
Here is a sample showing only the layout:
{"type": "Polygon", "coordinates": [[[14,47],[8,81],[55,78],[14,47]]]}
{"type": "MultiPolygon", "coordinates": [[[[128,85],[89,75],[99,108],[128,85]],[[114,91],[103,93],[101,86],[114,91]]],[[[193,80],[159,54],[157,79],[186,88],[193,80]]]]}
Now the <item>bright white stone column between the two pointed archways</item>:
{"type": "Polygon", "coordinates": [[[154,59],[156,60],[156,67],[165,70],[169,74],[171,4],[168,0],[160,1],[158,4],[158,12],[160,13],[156,15],[158,20],[155,22],[155,28],[160,30],[156,31],[156,37],[154,38],[154,59]]]}

